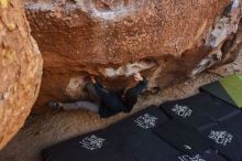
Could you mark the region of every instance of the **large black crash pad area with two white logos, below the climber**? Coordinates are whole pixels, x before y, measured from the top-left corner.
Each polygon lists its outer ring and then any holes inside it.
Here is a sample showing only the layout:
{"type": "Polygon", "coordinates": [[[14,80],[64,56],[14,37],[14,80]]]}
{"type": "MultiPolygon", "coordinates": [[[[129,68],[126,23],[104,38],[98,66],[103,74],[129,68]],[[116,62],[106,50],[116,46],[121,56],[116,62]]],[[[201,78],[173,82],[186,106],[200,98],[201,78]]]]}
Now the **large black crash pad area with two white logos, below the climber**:
{"type": "Polygon", "coordinates": [[[57,143],[43,150],[50,161],[161,161],[179,151],[153,135],[168,118],[152,106],[107,129],[57,143]]]}

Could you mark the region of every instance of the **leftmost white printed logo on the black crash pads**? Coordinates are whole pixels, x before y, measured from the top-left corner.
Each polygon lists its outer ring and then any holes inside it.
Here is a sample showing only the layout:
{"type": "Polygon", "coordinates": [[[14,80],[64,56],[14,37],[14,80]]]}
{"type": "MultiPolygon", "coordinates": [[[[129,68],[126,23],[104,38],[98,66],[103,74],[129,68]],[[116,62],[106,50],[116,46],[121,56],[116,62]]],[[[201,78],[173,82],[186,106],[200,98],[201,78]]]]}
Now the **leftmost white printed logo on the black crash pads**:
{"type": "Polygon", "coordinates": [[[101,148],[105,140],[106,139],[98,138],[95,135],[91,135],[90,137],[84,138],[82,141],[80,141],[79,143],[88,150],[95,150],[101,148]]]}

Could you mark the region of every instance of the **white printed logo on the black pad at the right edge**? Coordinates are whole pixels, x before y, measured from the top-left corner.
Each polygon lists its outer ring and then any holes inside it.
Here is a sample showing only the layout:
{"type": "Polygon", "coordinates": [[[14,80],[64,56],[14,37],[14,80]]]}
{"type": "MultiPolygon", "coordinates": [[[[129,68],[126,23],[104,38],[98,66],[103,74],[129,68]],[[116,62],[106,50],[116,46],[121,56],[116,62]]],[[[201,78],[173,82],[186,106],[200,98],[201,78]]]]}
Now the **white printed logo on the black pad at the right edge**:
{"type": "Polygon", "coordinates": [[[216,141],[216,143],[227,146],[228,143],[232,142],[233,136],[228,133],[227,131],[215,131],[212,130],[208,138],[216,141]]]}

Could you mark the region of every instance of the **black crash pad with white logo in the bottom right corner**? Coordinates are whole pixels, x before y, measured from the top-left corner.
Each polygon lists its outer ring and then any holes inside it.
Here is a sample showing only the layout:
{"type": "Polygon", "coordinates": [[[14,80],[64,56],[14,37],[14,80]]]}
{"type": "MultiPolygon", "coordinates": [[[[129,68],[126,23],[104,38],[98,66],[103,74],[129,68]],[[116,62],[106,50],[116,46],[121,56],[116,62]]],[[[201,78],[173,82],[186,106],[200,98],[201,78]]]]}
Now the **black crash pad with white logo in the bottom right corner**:
{"type": "Polygon", "coordinates": [[[213,141],[212,148],[230,161],[242,160],[242,114],[232,116],[201,132],[213,141]]]}

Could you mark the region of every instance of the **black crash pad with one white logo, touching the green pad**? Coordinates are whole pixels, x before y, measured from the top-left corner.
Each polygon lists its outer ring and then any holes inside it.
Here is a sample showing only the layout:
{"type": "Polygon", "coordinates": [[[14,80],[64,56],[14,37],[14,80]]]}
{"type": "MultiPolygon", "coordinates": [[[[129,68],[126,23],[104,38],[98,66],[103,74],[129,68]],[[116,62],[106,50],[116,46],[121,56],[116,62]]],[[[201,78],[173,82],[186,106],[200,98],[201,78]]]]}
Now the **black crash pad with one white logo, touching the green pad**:
{"type": "Polygon", "coordinates": [[[232,105],[207,93],[166,101],[161,105],[161,109],[172,118],[182,119],[197,128],[210,126],[240,112],[232,105]]]}

